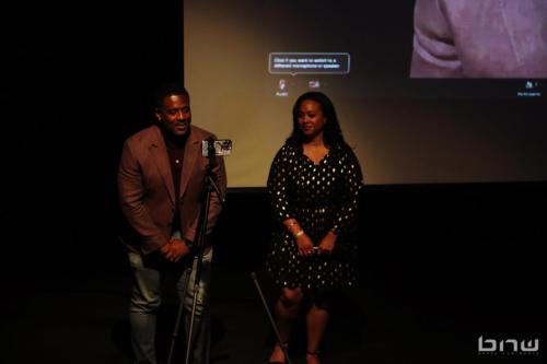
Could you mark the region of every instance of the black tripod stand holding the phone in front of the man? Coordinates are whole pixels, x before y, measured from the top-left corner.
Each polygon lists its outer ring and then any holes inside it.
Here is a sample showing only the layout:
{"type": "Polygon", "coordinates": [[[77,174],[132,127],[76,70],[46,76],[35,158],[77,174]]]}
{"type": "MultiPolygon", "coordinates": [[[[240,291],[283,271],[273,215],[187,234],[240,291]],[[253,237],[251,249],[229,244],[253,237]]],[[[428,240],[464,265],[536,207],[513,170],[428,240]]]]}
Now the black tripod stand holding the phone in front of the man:
{"type": "MultiPolygon", "coordinates": [[[[210,207],[210,201],[211,201],[211,192],[214,190],[216,193],[219,196],[219,200],[222,206],[224,206],[224,198],[222,197],[222,193],[220,192],[219,187],[217,184],[214,184],[214,175],[212,174],[212,167],[214,164],[214,156],[216,156],[216,151],[212,141],[209,141],[208,143],[208,150],[207,150],[207,155],[209,157],[209,164],[207,165],[206,169],[206,178],[203,181],[203,188],[201,190],[201,210],[199,213],[198,218],[198,227],[197,227],[197,236],[198,236],[198,253],[197,256],[194,258],[194,261],[196,262],[196,274],[195,274],[195,280],[194,280],[194,296],[193,296],[193,303],[191,303],[191,314],[190,314],[190,324],[189,324],[189,329],[188,329],[188,338],[187,338],[187,344],[186,344],[186,364],[190,363],[190,354],[193,352],[193,345],[194,345],[194,320],[196,316],[196,305],[197,305],[197,295],[199,292],[199,281],[201,280],[201,265],[203,261],[203,253],[205,253],[205,247],[206,247],[206,240],[207,240],[207,218],[209,216],[209,207],[210,207]]],[[[173,339],[171,342],[171,349],[170,349],[170,354],[167,359],[167,364],[171,364],[171,361],[173,359],[173,352],[174,352],[174,347],[175,347],[175,340],[177,337],[178,332],[178,327],[181,324],[181,318],[183,316],[183,310],[184,310],[184,302],[186,297],[186,290],[188,289],[188,284],[190,283],[190,274],[191,270],[194,269],[194,261],[191,263],[190,268],[190,273],[185,280],[184,283],[184,290],[181,298],[181,303],[178,306],[178,313],[177,313],[177,318],[175,322],[175,329],[173,332],[173,339]]]]}

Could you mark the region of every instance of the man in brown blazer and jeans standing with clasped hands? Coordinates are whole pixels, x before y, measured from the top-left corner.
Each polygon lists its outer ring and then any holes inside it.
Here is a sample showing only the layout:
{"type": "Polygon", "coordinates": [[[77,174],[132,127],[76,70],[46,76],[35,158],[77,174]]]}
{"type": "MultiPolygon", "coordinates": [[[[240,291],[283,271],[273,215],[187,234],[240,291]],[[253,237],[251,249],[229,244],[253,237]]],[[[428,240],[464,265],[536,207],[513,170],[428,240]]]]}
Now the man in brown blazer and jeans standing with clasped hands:
{"type": "MultiPolygon", "coordinates": [[[[197,230],[202,189],[210,171],[220,195],[210,193],[207,234],[221,212],[226,189],[222,157],[202,156],[201,142],[214,134],[191,125],[189,94],[183,86],[159,90],[156,124],[129,137],[118,168],[121,211],[136,233],[127,240],[133,271],[129,320],[136,363],[156,363],[155,316],[161,284],[175,273],[188,328],[194,298],[197,230]],[[189,284],[188,284],[189,283],[189,284]]],[[[206,243],[209,239],[205,239],[206,243]]],[[[212,247],[206,245],[194,321],[194,362],[209,363],[208,283],[212,247]]]]}

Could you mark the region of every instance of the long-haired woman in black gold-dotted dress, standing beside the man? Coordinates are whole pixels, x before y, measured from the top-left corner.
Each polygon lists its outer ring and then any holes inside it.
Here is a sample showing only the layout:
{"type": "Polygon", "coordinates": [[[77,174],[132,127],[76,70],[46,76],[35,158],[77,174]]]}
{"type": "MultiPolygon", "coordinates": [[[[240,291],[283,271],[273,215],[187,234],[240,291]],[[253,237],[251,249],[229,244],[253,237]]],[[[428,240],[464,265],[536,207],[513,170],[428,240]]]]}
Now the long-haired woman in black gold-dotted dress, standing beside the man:
{"type": "MultiPolygon", "coordinates": [[[[268,177],[275,227],[267,271],[281,287],[275,312],[284,343],[306,302],[306,363],[315,364],[335,290],[357,283],[357,209],[363,177],[325,94],[303,94],[292,116],[292,134],[268,177]]],[[[269,362],[284,360],[276,344],[269,362]]]]}

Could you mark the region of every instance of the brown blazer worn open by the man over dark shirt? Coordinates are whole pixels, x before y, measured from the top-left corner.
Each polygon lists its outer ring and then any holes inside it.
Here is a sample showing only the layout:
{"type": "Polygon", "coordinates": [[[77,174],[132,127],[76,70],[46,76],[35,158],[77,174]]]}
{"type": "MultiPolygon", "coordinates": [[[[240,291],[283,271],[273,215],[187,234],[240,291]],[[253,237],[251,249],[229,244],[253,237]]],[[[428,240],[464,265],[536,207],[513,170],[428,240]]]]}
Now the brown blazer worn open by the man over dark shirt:
{"type": "MultiPolygon", "coordinates": [[[[129,225],[140,237],[139,242],[126,242],[142,254],[158,250],[171,238],[171,225],[175,203],[181,210],[182,234],[189,242],[196,238],[201,190],[209,160],[201,154],[201,141],[216,139],[214,134],[190,126],[184,151],[179,196],[171,172],[167,150],[161,130],[151,126],[129,137],[121,152],[118,167],[118,193],[121,211],[129,225]]],[[[216,184],[224,196],[226,174],[222,157],[216,158],[212,168],[216,184]]],[[[219,196],[211,192],[207,234],[221,211],[219,196]]]]}

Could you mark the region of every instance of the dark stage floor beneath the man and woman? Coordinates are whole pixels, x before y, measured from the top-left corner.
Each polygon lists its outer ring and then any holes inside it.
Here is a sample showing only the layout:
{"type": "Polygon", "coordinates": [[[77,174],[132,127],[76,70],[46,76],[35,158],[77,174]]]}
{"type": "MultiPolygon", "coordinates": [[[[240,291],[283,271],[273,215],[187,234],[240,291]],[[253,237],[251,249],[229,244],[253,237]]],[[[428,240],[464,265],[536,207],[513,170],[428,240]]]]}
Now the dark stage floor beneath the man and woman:
{"type": "MultiPolygon", "coordinates": [[[[545,269],[539,257],[399,255],[365,259],[362,266],[362,286],[335,305],[324,363],[545,361],[545,286],[537,286],[545,269]],[[538,339],[539,350],[479,353],[479,337],[538,339]]],[[[259,277],[271,297],[267,280],[259,277]]],[[[1,305],[1,362],[129,363],[129,280],[124,269],[46,268],[9,281],[1,305]]],[[[159,321],[163,357],[175,312],[168,295],[159,321]]],[[[214,267],[212,313],[214,363],[267,362],[272,336],[248,271],[214,267]]],[[[296,332],[293,363],[304,363],[301,337],[296,332]]]]}

